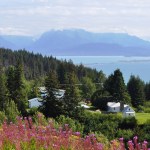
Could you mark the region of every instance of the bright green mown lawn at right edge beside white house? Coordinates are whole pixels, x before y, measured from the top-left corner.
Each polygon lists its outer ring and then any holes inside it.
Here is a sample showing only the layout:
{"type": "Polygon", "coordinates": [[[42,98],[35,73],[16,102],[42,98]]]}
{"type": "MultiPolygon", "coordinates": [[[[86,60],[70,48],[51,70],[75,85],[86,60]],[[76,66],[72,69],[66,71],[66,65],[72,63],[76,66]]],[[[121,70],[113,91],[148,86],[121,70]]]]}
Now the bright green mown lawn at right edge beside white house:
{"type": "Polygon", "coordinates": [[[135,117],[138,120],[138,124],[143,124],[148,119],[150,120],[150,113],[136,113],[135,117]]]}

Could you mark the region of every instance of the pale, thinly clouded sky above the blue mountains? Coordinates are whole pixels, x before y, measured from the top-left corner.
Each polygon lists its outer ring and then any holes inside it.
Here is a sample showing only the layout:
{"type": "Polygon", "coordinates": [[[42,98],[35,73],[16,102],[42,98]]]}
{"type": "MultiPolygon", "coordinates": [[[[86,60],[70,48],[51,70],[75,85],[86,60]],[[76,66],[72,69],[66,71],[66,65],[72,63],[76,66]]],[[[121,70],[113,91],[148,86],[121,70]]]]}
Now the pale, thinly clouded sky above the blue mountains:
{"type": "Polygon", "coordinates": [[[150,39],[150,0],[0,0],[0,35],[75,28],[150,39]]]}

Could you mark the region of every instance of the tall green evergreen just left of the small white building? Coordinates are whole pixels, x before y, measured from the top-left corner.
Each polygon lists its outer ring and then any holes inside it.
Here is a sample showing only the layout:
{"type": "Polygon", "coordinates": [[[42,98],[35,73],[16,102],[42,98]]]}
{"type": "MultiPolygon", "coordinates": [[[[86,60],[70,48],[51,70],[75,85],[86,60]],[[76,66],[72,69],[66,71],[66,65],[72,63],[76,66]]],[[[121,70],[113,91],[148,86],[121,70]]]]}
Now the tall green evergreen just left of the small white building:
{"type": "Polygon", "coordinates": [[[24,84],[23,66],[18,63],[15,67],[9,67],[7,73],[7,88],[9,99],[13,100],[18,110],[24,115],[26,113],[27,94],[24,84]]]}

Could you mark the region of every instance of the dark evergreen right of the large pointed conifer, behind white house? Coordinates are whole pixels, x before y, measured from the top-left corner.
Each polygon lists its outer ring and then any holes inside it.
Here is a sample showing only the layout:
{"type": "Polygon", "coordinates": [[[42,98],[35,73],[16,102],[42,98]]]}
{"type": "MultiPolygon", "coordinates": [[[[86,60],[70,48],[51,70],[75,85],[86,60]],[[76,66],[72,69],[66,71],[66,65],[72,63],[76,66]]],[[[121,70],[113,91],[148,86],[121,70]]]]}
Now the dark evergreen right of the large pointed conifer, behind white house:
{"type": "Polygon", "coordinates": [[[132,75],[127,83],[127,89],[131,96],[132,105],[136,108],[143,105],[145,99],[144,82],[139,77],[132,75]]]}

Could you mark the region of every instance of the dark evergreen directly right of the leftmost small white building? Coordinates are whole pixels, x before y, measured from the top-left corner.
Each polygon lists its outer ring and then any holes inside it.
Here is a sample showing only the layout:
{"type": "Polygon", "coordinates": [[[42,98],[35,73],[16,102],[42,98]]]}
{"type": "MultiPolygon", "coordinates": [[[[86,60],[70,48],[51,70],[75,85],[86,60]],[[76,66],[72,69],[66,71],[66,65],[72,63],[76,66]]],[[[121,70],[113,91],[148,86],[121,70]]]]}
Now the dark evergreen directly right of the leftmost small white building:
{"type": "Polygon", "coordinates": [[[58,78],[55,71],[50,71],[45,79],[45,87],[47,97],[43,101],[41,107],[42,112],[46,117],[57,117],[62,113],[62,101],[57,98],[58,78]]]}

